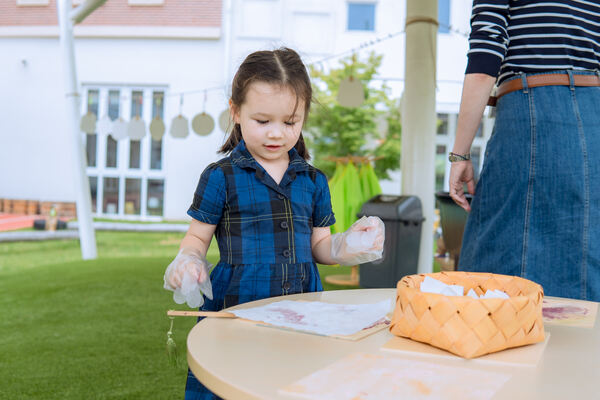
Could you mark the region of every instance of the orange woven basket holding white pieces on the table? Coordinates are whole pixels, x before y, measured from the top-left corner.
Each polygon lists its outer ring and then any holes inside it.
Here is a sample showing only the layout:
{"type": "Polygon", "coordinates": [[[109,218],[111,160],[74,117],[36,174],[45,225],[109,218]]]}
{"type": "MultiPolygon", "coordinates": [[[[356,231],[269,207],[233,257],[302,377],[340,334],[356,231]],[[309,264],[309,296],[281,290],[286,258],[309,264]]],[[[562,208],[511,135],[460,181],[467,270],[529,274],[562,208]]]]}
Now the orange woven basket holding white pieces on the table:
{"type": "Polygon", "coordinates": [[[390,332],[428,343],[464,358],[544,340],[540,285],[516,276],[438,272],[405,276],[398,282],[390,332]],[[508,299],[474,299],[420,290],[425,276],[461,285],[477,295],[499,289],[508,299]]]}

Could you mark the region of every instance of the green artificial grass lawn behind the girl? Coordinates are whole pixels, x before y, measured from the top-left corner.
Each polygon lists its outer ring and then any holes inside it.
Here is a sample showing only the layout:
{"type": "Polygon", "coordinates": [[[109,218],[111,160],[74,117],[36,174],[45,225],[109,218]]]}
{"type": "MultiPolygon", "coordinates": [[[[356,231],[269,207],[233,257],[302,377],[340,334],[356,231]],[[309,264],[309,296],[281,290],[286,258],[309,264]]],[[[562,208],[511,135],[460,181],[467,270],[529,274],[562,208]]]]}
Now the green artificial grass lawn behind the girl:
{"type": "MultiPolygon", "coordinates": [[[[186,309],[162,288],[183,233],[96,232],[98,259],[77,240],[0,244],[0,399],[176,399],[184,394],[185,340],[194,318],[177,318],[183,365],[166,357],[168,309],[186,309]]],[[[208,252],[213,264],[218,249],[208,252]]],[[[329,274],[350,267],[319,266],[329,274]]]]}

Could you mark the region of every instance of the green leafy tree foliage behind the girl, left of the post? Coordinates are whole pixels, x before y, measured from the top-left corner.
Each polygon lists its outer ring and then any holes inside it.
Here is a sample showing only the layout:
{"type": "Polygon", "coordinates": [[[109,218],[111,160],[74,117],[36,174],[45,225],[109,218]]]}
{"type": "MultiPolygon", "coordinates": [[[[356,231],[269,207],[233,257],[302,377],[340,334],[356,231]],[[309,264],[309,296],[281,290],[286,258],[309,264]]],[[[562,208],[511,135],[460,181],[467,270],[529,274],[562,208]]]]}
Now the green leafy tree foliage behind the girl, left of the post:
{"type": "Polygon", "coordinates": [[[306,123],[306,141],[313,153],[314,164],[327,176],[335,170],[328,156],[374,156],[379,179],[387,179],[389,171],[400,167],[399,102],[390,98],[390,88],[375,85],[373,77],[382,56],[371,53],[366,60],[355,56],[344,58],[341,66],[327,72],[310,68],[315,104],[306,123]],[[358,79],[365,91],[361,107],[342,107],[337,102],[342,80],[358,79]]]}

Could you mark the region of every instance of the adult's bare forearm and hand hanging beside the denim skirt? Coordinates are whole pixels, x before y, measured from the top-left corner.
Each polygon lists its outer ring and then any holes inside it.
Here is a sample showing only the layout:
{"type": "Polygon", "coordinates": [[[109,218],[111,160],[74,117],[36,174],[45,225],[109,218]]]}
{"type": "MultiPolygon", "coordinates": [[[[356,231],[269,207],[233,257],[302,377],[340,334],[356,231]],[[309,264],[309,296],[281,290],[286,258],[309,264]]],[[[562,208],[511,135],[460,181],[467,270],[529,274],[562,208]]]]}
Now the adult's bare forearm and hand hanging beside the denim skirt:
{"type": "MultiPolygon", "coordinates": [[[[496,78],[487,74],[466,74],[463,84],[460,111],[456,123],[456,139],[452,152],[467,154],[470,152],[471,143],[477,133],[481,122],[483,110],[494,87],[496,78]]],[[[462,208],[469,211],[471,207],[467,201],[463,184],[467,184],[469,193],[475,193],[473,180],[473,164],[471,161],[453,162],[450,168],[450,197],[462,208]]]]}

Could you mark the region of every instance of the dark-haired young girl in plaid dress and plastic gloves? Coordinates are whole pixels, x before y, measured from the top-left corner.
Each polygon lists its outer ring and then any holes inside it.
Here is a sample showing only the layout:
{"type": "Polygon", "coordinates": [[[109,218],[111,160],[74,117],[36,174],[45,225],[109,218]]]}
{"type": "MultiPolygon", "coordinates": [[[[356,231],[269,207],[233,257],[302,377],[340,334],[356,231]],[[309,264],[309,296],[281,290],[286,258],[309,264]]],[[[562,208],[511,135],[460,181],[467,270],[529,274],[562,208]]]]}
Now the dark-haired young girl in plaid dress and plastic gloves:
{"type": "MultiPolygon", "coordinates": [[[[330,234],[335,217],[327,178],[306,162],[301,132],[311,99],[295,51],[258,51],[244,60],[229,101],[234,127],[220,149],[229,156],[202,173],[188,210],[193,220],[165,273],[165,288],[176,292],[176,301],[204,302],[201,294],[194,298],[197,290],[182,293],[186,280],[200,287],[207,298],[202,309],[210,311],[321,291],[315,262],[353,265],[381,257],[384,227],[376,217],[330,234]],[[350,232],[372,240],[356,250],[344,240],[350,232]],[[209,278],[205,255],[213,234],[220,261],[209,278]]],[[[217,397],[188,372],[185,398],[217,397]]]]}

